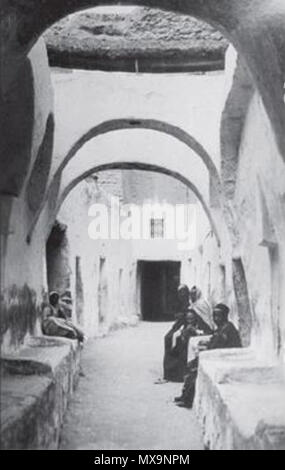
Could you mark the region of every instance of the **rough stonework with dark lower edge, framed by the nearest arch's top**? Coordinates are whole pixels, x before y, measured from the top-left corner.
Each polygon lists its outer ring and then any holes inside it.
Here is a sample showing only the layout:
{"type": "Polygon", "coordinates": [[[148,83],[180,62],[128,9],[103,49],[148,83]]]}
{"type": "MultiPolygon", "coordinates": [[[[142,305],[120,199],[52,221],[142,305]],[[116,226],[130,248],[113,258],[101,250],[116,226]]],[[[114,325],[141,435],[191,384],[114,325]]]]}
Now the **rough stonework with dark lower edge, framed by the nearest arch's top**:
{"type": "MultiPolygon", "coordinates": [[[[221,33],[191,17],[134,8],[125,13],[79,13],[55,24],[45,34],[53,66],[107,69],[133,67],[198,70],[223,67],[227,46],[221,33]],[[161,66],[159,67],[159,64],[161,66]],[[206,65],[207,64],[207,65],[206,65]]],[[[145,70],[144,70],[145,71],[145,70]]]]}

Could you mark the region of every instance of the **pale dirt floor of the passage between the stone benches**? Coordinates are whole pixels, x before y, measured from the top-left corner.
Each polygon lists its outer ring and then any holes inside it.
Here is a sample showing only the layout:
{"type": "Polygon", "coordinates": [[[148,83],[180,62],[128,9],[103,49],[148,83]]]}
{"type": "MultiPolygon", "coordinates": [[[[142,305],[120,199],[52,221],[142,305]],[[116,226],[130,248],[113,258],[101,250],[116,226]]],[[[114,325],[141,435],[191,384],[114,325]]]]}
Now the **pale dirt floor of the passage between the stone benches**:
{"type": "Polygon", "coordinates": [[[85,376],[67,411],[61,449],[202,449],[194,412],[173,403],[181,385],[155,384],[169,325],[140,323],[89,340],[85,376]]]}

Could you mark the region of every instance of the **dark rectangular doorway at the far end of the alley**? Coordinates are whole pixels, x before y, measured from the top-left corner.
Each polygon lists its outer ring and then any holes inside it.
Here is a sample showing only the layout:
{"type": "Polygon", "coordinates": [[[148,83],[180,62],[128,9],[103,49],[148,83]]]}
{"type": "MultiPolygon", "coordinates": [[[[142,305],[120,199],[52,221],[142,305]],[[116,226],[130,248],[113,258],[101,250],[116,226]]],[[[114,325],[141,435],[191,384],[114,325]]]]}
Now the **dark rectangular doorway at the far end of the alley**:
{"type": "Polygon", "coordinates": [[[172,321],[177,310],[181,263],[139,261],[141,313],[145,321],[172,321]]]}

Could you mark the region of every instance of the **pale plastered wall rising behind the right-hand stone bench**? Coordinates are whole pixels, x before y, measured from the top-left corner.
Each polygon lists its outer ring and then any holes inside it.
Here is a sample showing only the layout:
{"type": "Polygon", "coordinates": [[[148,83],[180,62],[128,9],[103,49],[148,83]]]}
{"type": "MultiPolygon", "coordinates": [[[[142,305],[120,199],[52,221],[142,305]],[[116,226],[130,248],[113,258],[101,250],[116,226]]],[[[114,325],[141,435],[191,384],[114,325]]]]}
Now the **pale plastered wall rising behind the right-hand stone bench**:
{"type": "Polygon", "coordinates": [[[234,203],[251,299],[252,345],[267,359],[280,352],[280,341],[284,348],[284,181],[284,165],[256,93],[240,144],[234,203]]]}

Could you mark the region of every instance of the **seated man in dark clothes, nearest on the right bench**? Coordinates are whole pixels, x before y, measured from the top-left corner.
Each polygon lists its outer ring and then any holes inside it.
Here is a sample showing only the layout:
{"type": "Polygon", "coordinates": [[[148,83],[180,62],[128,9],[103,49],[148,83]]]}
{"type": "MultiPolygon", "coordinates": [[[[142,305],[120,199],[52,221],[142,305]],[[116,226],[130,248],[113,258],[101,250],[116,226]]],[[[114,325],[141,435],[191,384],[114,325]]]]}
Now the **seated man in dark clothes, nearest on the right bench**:
{"type": "MultiPolygon", "coordinates": [[[[240,335],[235,326],[228,320],[229,311],[229,308],[224,304],[218,304],[214,307],[213,320],[217,329],[200,350],[241,347],[240,335]]],[[[188,363],[182,395],[180,397],[176,397],[174,400],[178,406],[192,408],[195,396],[198,366],[198,357],[188,363]]]]}

